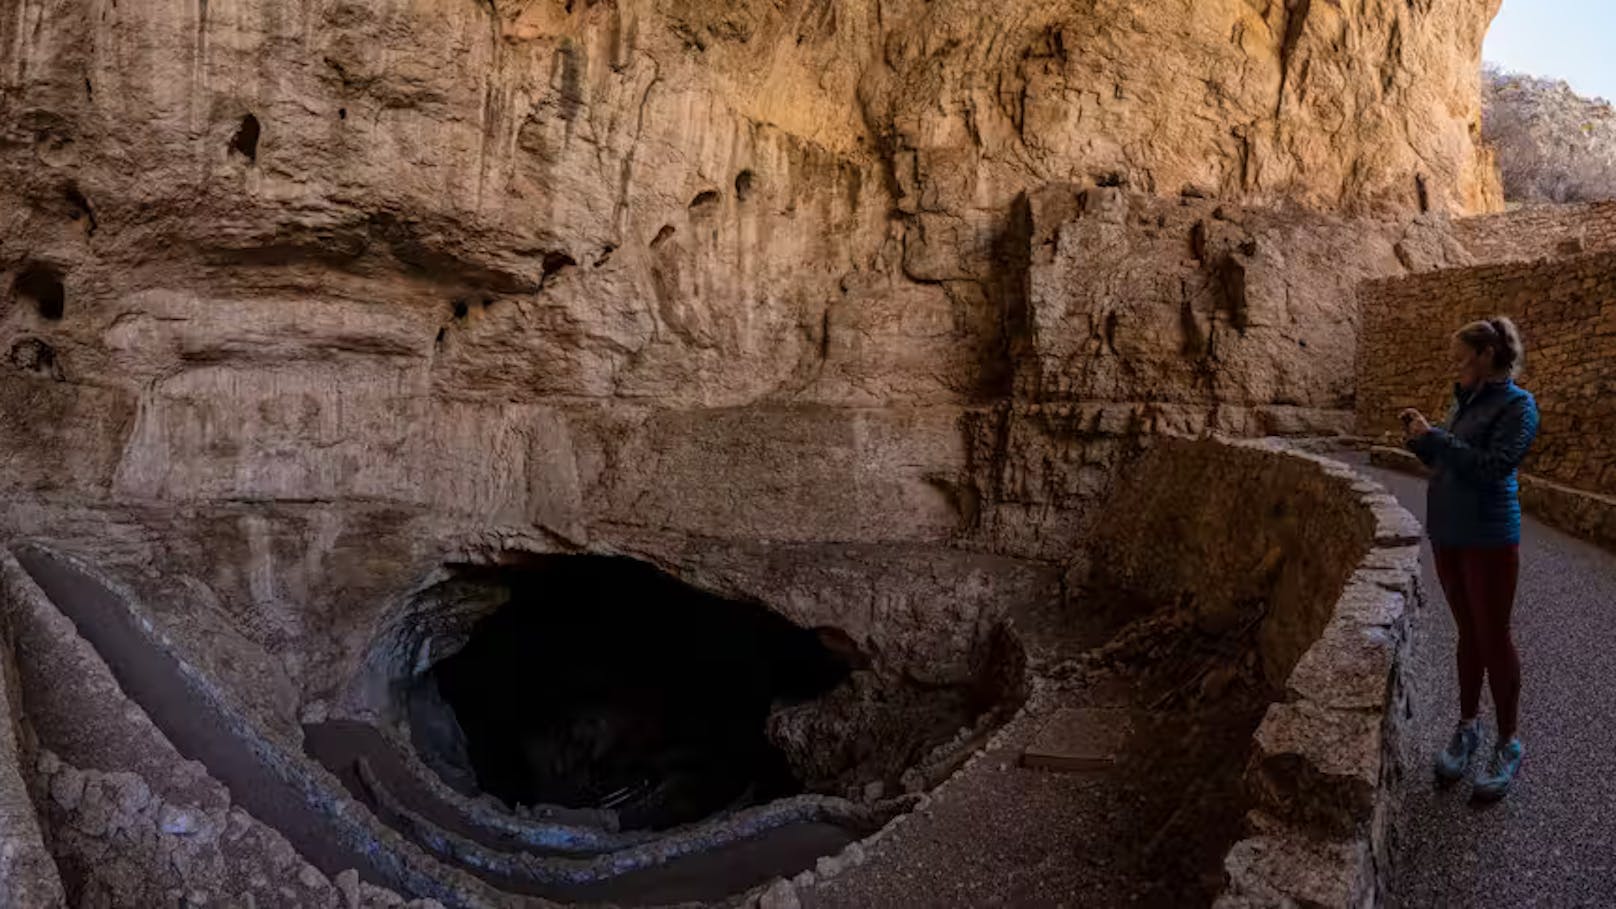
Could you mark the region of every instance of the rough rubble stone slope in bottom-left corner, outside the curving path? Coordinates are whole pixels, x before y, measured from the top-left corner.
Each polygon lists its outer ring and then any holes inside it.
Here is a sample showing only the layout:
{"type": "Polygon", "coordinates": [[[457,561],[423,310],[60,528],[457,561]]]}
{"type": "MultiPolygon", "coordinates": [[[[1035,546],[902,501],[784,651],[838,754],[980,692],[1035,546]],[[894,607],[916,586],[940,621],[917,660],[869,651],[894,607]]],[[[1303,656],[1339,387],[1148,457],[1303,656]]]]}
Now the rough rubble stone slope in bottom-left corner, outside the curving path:
{"type": "MultiPolygon", "coordinates": [[[[231,793],[202,763],[186,760],[121,691],[73,621],[3,548],[0,618],[6,649],[27,655],[16,665],[18,691],[37,744],[29,762],[10,763],[0,754],[0,772],[31,781],[37,823],[48,835],[47,860],[53,859],[52,872],[60,867],[69,882],[73,904],[406,904],[396,893],[360,882],[354,870],[326,877],[278,830],[234,804],[231,793]]],[[[26,880],[0,867],[0,893],[26,880]]],[[[37,893],[47,896],[48,890],[37,893]]],[[[407,906],[441,909],[435,899],[407,906]]]]}

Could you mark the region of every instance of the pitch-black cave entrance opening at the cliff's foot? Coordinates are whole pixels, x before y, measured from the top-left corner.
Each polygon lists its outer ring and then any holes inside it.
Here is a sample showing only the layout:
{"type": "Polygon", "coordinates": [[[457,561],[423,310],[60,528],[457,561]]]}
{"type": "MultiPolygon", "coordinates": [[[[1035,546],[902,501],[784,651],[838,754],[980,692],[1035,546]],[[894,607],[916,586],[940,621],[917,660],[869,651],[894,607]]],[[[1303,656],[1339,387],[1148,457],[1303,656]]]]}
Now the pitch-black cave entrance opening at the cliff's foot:
{"type": "Polygon", "coordinates": [[[507,598],[412,686],[412,738],[428,763],[467,770],[509,805],[609,809],[624,828],[802,791],[766,723],[848,676],[845,652],[827,647],[834,631],[629,558],[465,573],[507,598]]]}

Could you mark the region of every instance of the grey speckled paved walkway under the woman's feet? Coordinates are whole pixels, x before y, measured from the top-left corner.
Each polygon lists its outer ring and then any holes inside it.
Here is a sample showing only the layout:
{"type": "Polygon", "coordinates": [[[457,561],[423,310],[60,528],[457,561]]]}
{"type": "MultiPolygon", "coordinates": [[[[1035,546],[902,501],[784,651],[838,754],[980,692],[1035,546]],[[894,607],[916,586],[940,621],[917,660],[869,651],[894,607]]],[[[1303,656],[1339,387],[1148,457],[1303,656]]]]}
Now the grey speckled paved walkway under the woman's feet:
{"type": "MultiPolygon", "coordinates": [[[[1370,472],[1424,518],[1424,480],[1370,472]]],[[[1454,628],[1429,547],[1424,563],[1430,608],[1414,618],[1411,671],[1422,763],[1404,781],[1393,904],[1616,906],[1616,555],[1527,521],[1514,611],[1526,763],[1485,809],[1467,783],[1437,789],[1424,763],[1458,718],[1454,628]]],[[[1487,695],[1482,715],[1492,747],[1487,695]]]]}

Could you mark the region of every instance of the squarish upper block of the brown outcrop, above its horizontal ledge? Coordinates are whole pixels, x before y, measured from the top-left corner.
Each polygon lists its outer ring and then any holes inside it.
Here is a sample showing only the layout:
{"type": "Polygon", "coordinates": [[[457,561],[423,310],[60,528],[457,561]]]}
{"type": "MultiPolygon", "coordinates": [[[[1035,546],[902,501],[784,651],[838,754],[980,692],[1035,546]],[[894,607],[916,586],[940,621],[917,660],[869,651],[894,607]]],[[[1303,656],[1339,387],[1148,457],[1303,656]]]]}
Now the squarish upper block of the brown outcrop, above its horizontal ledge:
{"type": "Polygon", "coordinates": [[[1154,403],[1180,421],[1202,412],[1185,432],[1343,425],[1353,288],[1401,273],[1401,225],[1107,188],[1046,186],[1029,209],[1016,400],[1154,403]]]}

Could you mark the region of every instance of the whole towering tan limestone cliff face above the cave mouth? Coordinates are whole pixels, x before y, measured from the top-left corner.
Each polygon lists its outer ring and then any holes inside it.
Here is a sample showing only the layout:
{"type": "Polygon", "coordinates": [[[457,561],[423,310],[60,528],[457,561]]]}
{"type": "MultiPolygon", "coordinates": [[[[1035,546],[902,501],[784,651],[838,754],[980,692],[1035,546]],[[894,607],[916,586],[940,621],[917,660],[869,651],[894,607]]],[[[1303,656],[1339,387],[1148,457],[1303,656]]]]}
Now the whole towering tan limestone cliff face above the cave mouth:
{"type": "Polygon", "coordinates": [[[260,642],[399,514],[1054,556],[1139,430],[1349,422],[1496,5],[0,0],[0,488],[304,509],[165,524],[260,642]]]}

